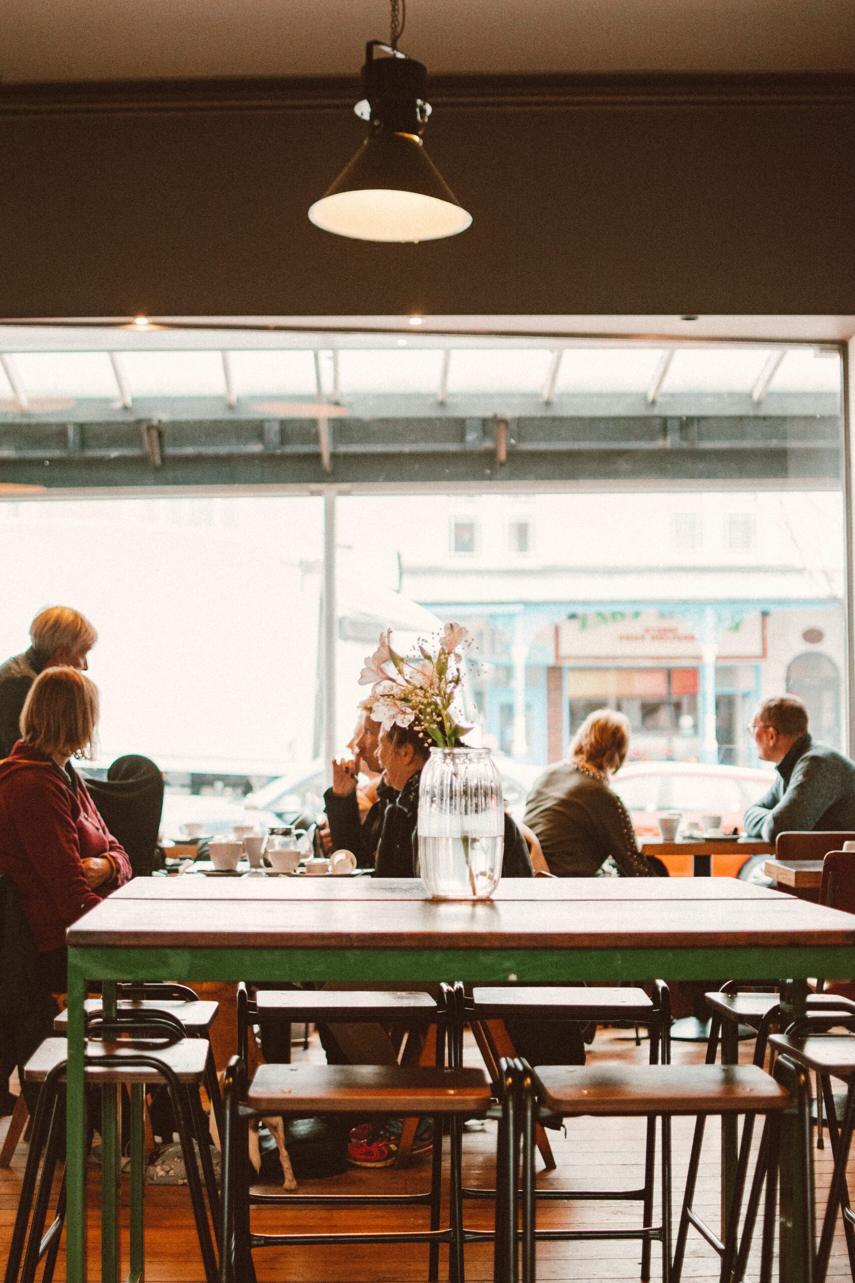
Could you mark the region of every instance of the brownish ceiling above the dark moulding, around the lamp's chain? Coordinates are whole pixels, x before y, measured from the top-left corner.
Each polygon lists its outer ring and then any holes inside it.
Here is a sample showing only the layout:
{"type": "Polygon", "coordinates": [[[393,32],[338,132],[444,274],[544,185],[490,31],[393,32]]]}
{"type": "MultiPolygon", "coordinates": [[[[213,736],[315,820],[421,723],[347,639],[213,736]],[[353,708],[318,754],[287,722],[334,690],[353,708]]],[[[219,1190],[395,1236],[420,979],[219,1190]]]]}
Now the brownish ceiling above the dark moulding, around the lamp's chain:
{"type": "MultiPolygon", "coordinates": [[[[0,80],[342,76],[385,0],[5,0],[0,80]]],[[[847,72],[841,0],[409,0],[432,72],[847,72]]]]}

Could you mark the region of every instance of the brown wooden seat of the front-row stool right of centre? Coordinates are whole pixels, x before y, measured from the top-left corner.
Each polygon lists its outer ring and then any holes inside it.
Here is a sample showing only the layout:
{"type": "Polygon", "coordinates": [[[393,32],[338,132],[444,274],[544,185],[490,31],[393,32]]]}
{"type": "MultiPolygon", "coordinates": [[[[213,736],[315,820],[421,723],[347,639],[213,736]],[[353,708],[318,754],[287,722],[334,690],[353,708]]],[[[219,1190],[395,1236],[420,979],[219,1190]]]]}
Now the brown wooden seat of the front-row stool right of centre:
{"type": "MultiPolygon", "coordinates": [[[[852,1039],[855,1043],[855,1039],[852,1039]]],[[[541,1065],[554,1114],[745,1114],[782,1110],[787,1091],[755,1065],[541,1065]]]]}

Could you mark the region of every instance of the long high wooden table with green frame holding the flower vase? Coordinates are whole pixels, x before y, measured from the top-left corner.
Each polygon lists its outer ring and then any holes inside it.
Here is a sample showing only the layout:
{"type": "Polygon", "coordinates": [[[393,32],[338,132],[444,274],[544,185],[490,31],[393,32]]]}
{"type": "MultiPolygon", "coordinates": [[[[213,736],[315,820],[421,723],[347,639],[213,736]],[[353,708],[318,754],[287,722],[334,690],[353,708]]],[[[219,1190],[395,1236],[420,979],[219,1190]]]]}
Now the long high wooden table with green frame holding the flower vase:
{"type": "MultiPolygon", "coordinates": [[[[69,1283],[86,1279],[87,981],[104,984],[109,1015],[122,980],[750,978],[782,981],[782,999],[795,1017],[804,1011],[808,976],[855,976],[855,917],[849,913],[729,879],[687,896],[700,887],[670,879],[520,879],[502,883],[486,903],[431,901],[419,883],[406,880],[173,878],[123,888],[68,931],[69,1283]]],[[[109,1094],[103,1128],[101,1278],[115,1283],[119,1147],[109,1094]]],[[[800,1278],[795,1262],[805,1233],[790,1214],[795,1178],[787,1161],[795,1148],[795,1138],[786,1137],[782,1283],[800,1278]]]]}

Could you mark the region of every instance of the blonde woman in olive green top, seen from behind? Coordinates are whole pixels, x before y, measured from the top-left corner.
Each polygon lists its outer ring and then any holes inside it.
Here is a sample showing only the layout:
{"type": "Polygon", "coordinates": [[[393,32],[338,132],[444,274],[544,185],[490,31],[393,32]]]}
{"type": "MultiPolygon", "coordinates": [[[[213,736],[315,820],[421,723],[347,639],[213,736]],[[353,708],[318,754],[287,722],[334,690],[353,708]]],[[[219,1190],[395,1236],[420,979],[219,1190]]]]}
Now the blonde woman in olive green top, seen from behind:
{"type": "Polygon", "coordinates": [[[609,856],[624,878],[656,876],[636,845],[629,812],[609,788],[628,748],[629,720],[597,708],[576,733],[569,762],[556,762],[535,781],[526,824],[556,876],[592,878],[609,856]]]}

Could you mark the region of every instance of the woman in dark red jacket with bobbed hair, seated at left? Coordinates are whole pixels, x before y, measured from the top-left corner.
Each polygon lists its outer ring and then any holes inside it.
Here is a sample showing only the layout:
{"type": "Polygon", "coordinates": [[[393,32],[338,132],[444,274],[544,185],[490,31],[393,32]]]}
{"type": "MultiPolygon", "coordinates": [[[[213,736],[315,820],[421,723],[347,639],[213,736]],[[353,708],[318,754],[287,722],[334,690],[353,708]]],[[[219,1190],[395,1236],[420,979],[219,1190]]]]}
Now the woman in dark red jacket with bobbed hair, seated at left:
{"type": "Polygon", "coordinates": [[[65,992],[65,928],[131,878],[88,790],[69,767],[91,757],[97,689],[77,668],[45,668],[0,762],[0,872],[14,881],[38,958],[40,989],[65,992]]]}

